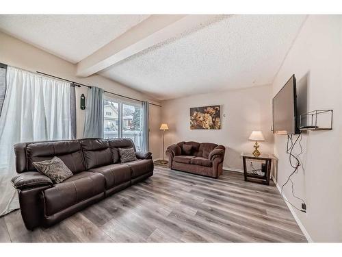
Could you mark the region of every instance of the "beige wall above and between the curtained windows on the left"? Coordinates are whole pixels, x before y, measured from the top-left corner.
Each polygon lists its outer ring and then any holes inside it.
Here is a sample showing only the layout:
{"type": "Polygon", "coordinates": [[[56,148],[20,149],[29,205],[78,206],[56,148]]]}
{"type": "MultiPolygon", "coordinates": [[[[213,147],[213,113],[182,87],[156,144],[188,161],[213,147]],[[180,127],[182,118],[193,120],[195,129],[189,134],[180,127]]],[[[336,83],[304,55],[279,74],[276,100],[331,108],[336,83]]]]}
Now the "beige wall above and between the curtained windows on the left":
{"type": "MultiPolygon", "coordinates": [[[[90,77],[81,78],[76,77],[76,66],[66,60],[53,56],[50,53],[42,51],[32,45],[29,45],[21,40],[13,38],[8,34],[0,32],[0,62],[12,66],[16,66],[28,71],[41,71],[49,73],[58,77],[64,77],[79,83],[88,84],[90,86],[98,86],[107,91],[133,97],[143,101],[150,101],[159,104],[155,99],[148,97],[137,90],[133,90],[118,84],[110,79],[100,75],[92,75],[90,77]]],[[[77,107],[77,138],[81,138],[83,134],[85,110],[81,110],[80,96],[85,94],[87,96],[86,87],[76,88],[76,107],[77,107]]],[[[157,106],[151,106],[150,112],[156,112],[157,106]]],[[[159,125],[159,116],[150,117],[153,121],[150,122],[150,137],[153,142],[150,143],[150,151],[153,152],[153,158],[159,158],[161,152],[161,137],[159,134],[156,136],[156,127],[159,125]],[[158,123],[158,124],[157,124],[158,123]],[[159,141],[158,141],[159,140],[159,141]],[[157,142],[158,141],[158,142],[157,142]]],[[[159,129],[159,127],[158,127],[159,129]]]]}

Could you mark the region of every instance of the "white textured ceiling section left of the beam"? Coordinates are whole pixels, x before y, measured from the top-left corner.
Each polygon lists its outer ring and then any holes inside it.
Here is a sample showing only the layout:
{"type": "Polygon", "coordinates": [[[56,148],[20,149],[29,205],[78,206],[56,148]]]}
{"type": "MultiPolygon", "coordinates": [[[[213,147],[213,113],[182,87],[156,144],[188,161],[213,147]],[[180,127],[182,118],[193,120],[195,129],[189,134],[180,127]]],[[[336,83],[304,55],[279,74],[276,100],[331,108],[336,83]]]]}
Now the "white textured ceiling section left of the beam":
{"type": "Polygon", "coordinates": [[[0,15],[0,30],[77,63],[149,15],[0,15]]]}

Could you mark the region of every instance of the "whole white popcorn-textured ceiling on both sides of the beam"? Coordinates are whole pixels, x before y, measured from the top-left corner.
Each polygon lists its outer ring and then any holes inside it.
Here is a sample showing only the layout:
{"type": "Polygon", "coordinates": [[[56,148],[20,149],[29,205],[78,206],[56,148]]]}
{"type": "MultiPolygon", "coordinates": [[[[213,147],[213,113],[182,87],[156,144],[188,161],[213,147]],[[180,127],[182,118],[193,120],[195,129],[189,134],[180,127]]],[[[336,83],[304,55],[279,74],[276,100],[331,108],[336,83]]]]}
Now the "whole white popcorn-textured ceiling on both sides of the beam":
{"type": "MultiPolygon", "coordinates": [[[[148,16],[0,15],[0,31],[75,64],[148,16]]],[[[99,74],[159,100],[272,84],[305,17],[216,15],[99,74]]]]}

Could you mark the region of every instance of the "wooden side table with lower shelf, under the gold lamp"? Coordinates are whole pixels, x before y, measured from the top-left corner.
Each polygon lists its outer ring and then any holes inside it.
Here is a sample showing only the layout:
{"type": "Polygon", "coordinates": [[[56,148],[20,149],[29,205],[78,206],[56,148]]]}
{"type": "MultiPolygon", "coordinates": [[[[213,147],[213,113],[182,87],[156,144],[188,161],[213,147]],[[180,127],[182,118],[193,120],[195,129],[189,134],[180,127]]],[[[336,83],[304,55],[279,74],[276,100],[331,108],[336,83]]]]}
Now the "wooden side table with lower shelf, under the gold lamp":
{"type": "Polygon", "coordinates": [[[275,158],[273,154],[261,154],[261,156],[253,156],[253,154],[241,153],[244,161],[244,176],[245,181],[259,182],[269,185],[271,176],[272,160],[275,158]],[[258,167],[254,167],[253,162],[258,163],[258,167]],[[248,165],[248,163],[250,163],[248,165]],[[249,169],[248,169],[248,166],[249,169]],[[252,180],[248,180],[251,178],[252,180]]]}

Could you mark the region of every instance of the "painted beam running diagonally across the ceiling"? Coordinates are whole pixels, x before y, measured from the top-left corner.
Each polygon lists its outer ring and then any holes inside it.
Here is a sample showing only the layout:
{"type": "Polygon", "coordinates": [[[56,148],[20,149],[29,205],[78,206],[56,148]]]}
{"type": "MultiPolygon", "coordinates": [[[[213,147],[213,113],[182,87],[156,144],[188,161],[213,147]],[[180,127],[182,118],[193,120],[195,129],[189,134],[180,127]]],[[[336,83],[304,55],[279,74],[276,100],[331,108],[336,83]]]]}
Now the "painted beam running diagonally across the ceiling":
{"type": "MultiPolygon", "coordinates": [[[[179,36],[216,15],[151,15],[77,64],[77,75],[88,77],[169,38],[179,36]]],[[[85,42],[86,43],[86,42],[85,42]]]]}

